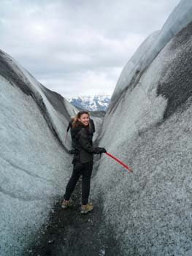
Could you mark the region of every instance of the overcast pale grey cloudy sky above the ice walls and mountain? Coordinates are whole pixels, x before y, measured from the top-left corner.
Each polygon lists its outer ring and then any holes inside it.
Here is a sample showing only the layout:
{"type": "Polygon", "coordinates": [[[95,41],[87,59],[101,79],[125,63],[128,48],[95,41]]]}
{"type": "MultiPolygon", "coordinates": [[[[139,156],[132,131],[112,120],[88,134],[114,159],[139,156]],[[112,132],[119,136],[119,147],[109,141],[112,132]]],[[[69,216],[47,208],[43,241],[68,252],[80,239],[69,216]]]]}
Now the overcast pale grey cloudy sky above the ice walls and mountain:
{"type": "Polygon", "coordinates": [[[112,94],[180,0],[1,0],[0,48],[64,97],[112,94]]]}

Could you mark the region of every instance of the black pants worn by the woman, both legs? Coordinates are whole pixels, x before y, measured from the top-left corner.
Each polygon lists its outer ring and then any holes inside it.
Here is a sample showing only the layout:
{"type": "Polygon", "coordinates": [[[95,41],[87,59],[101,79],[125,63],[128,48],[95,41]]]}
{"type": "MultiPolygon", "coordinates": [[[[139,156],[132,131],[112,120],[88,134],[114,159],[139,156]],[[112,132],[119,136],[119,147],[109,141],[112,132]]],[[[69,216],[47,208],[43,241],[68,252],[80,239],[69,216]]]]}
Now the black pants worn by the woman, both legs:
{"type": "Polygon", "coordinates": [[[66,192],[64,195],[65,200],[69,200],[78,179],[82,175],[82,205],[86,205],[88,203],[92,170],[93,161],[85,162],[83,164],[81,162],[76,162],[74,164],[72,176],[66,185],[66,192]]]}

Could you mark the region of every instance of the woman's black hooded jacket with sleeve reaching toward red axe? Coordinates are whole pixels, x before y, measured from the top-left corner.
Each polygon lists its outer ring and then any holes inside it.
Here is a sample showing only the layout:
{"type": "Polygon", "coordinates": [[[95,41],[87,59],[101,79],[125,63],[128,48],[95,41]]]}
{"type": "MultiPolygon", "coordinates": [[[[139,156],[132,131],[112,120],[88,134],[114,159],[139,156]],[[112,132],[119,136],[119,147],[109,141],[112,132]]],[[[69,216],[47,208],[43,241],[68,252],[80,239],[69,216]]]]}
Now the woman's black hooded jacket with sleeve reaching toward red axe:
{"type": "Polygon", "coordinates": [[[85,127],[79,122],[78,127],[72,128],[72,137],[75,140],[77,154],[74,154],[73,163],[80,161],[82,163],[93,161],[93,154],[101,154],[101,148],[93,147],[93,133],[89,127],[85,127]]]}

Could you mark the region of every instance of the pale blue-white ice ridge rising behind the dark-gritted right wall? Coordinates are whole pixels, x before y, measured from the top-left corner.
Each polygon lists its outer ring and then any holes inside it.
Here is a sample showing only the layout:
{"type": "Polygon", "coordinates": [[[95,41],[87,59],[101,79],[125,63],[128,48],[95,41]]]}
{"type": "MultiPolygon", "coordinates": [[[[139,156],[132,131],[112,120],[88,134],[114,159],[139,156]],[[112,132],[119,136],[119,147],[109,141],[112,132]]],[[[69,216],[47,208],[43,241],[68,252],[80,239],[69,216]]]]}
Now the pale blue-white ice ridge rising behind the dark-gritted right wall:
{"type": "Polygon", "coordinates": [[[120,95],[129,86],[137,85],[139,78],[145,69],[152,63],[162,48],[169,42],[175,34],[192,21],[192,1],[182,0],[175,7],[172,14],[166,20],[161,31],[156,31],[140,45],[134,56],[128,61],[120,74],[118,83],[112,94],[109,111],[115,108],[120,95]]]}

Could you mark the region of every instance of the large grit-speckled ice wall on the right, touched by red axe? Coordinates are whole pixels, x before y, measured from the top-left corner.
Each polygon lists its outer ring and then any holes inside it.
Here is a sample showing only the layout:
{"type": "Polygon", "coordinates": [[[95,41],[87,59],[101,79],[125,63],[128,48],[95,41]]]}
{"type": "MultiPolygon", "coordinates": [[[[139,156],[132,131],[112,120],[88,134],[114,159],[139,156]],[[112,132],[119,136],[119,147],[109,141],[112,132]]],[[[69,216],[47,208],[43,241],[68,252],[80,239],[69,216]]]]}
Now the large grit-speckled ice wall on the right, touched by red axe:
{"type": "MultiPolygon", "coordinates": [[[[191,1],[181,1],[166,23],[180,31],[172,33],[137,80],[129,78],[127,66],[123,69],[102,125],[100,144],[134,168],[127,173],[103,155],[93,180],[93,195],[102,194],[122,255],[192,255],[189,13],[191,1]],[[126,87],[122,75],[130,81],[126,87]]],[[[154,45],[158,33],[149,38],[154,45]]],[[[134,63],[137,69],[139,60],[134,63]]]]}

